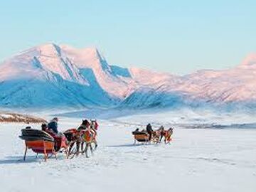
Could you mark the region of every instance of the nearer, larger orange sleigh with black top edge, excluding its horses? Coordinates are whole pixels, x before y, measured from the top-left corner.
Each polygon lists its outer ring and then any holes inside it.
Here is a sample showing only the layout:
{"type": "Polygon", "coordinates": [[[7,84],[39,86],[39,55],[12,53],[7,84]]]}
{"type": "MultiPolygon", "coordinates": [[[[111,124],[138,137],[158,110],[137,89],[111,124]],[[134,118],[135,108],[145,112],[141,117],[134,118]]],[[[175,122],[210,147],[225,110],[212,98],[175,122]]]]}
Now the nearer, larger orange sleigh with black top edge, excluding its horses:
{"type": "Polygon", "coordinates": [[[65,137],[53,137],[48,132],[38,129],[21,129],[21,139],[25,141],[26,149],[24,152],[23,160],[26,160],[26,153],[31,149],[36,154],[44,154],[45,161],[48,159],[49,154],[57,158],[57,153],[60,149],[68,149],[65,137]]]}

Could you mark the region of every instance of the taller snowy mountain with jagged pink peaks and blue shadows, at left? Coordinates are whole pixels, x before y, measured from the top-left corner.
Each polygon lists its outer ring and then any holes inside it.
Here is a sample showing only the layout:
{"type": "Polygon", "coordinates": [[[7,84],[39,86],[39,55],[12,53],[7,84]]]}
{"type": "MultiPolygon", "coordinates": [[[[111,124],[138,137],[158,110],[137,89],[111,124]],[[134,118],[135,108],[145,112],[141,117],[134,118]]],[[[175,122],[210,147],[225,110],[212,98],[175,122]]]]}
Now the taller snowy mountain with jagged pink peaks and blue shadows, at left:
{"type": "Polygon", "coordinates": [[[96,48],[48,43],[0,65],[0,106],[117,105],[140,85],[158,79],[158,73],[108,65],[96,48]]]}

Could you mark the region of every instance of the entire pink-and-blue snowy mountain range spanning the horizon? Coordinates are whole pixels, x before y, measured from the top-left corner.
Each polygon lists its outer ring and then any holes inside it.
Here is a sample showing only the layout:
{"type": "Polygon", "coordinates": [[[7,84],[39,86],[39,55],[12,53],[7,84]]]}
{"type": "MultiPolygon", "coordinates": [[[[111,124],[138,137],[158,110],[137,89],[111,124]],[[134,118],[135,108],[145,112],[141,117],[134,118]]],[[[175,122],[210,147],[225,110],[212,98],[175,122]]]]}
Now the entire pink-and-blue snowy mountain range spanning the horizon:
{"type": "Polygon", "coordinates": [[[0,65],[1,107],[256,107],[256,54],[184,76],[109,65],[96,48],[53,43],[0,65]]]}

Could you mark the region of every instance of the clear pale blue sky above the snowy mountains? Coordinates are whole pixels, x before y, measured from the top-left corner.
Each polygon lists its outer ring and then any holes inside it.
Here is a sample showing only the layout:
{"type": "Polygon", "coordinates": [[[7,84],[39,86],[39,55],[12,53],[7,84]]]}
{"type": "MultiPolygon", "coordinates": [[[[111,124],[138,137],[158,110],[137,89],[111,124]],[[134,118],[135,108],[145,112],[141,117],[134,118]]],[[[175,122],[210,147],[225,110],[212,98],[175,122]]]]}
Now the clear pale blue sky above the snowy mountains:
{"type": "Polygon", "coordinates": [[[2,1],[0,60],[53,42],[111,64],[174,74],[238,65],[256,51],[256,1],[2,1]]]}

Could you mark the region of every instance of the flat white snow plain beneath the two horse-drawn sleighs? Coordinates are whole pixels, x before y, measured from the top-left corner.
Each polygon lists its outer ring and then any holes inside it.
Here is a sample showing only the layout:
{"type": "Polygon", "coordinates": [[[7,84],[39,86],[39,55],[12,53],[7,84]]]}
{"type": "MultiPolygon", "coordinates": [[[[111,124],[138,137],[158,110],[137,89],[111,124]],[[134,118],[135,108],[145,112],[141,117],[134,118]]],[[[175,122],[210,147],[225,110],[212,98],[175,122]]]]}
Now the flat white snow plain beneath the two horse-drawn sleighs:
{"type": "MultiPolygon", "coordinates": [[[[1,123],[1,191],[256,191],[256,129],[181,126],[169,145],[134,146],[131,132],[137,126],[131,122],[152,119],[153,114],[100,120],[94,156],[65,159],[59,154],[47,162],[31,151],[24,162],[18,138],[24,125],[1,123]]],[[[156,119],[173,120],[169,114],[156,119]]],[[[60,129],[80,122],[60,117],[60,129]]]]}

